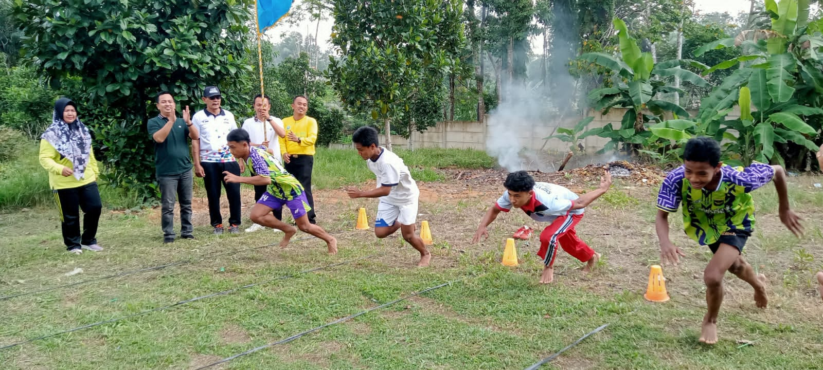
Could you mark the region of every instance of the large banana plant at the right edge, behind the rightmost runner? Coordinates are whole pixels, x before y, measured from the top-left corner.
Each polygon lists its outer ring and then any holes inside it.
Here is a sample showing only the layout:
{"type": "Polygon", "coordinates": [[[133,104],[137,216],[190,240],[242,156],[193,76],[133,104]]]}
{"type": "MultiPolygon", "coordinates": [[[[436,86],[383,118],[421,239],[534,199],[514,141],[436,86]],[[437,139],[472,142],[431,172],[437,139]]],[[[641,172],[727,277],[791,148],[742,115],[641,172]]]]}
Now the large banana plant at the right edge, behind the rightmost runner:
{"type": "Polygon", "coordinates": [[[801,167],[807,150],[817,147],[810,139],[823,127],[823,20],[808,20],[809,0],[767,0],[765,9],[772,17],[770,30],[751,30],[745,37],[720,39],[695,50],[700,55],[735,44],[751,50],[704,72],[739,66],[701,101],[698,121],[709,132],[719,127],[738,132],[728,150],[739,153],[743,163],[791,160],[792,167],[801,167]],[[738,96],[738,90],[746,96],[738,96]],[[742,111],[750,106],[746,101],[756,111],[727,121],[724,113],[736,100],[742,111]]]}

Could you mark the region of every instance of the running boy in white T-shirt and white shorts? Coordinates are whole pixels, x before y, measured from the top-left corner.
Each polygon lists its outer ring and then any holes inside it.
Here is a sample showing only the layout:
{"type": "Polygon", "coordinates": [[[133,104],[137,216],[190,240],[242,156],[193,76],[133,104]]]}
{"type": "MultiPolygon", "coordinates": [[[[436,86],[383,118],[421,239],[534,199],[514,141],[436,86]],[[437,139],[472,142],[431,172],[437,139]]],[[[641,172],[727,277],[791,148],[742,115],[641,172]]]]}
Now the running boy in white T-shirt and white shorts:
{"type": "Polygon", "coordinates": [[[377,175],[377,187],[361,191],[356,188],[346,189],[351,198],[380,198],[377,217],[374,220],[374,235],[385,238],[400,229],[400,232],[417,252],[420,261],[417,266],[429,266],[431,254],[426,249],[423,239],[415,234],[417,220],[417,189],[412,174],[403,163],[402,158],[386,148],[379,146],[377,130],[373,127],[360,127],[351,136],[357,153],[377,175]]]}

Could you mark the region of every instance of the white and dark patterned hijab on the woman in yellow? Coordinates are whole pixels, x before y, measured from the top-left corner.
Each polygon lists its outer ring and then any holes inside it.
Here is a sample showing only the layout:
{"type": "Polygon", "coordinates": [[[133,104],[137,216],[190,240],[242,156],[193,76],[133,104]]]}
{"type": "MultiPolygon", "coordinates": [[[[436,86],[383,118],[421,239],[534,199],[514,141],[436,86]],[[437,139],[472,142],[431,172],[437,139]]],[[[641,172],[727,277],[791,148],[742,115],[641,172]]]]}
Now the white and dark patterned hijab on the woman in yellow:
{"type": "Polygon", "coordinates": [[[52,124],[43,132],[43,140],[49,141],[54,149],[72,162],[74,178],[80,180],[86,173],[91,160],[91,134],[88,127],[77,118],[74,122],[63,121],[63,110],[67,105],[77,109],[72,99],[60,98],[54,103],[52,124]]]}

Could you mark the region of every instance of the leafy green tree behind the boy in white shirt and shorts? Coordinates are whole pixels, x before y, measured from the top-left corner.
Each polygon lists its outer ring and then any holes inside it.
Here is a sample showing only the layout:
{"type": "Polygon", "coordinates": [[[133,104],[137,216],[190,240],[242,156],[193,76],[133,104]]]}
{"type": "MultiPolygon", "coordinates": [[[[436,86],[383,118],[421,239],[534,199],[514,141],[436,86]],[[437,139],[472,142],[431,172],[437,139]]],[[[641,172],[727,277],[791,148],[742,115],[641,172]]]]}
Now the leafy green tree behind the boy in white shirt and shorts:
{"type": "MultiPolygon", "coordinates": [[[[394,119],[442,107],[444,78],[464,43],[461,5],[457,0],[335,1],[332,43],[341,56],[330,61],[329,80],[351,113],[368,112],[384,122],[388,147],[394,119]]],[[[412,116],[418,129],[439,118],[412,116]]]]}

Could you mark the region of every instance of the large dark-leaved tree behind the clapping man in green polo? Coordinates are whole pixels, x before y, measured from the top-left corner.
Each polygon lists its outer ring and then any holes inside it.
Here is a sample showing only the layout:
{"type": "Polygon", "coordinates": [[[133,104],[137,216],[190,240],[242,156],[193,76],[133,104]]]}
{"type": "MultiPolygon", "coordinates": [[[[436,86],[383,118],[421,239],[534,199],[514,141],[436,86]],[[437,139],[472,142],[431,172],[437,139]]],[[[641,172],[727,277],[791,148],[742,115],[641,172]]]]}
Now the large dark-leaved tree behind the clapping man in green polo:
{"type": "Polygon", "coordinates": [[[156,91],[170,90],[181,104],[197,105],[205,86],[218,85],[226,103],[235,103],[237,95],[228,92],[239,89],[231,77],[251,70],[251,3],[16,0],[13,13],[24,25],[26,58],[53,85],[77,81],[72,99],[114,169],[109,181],[153,196],[148,102],[156,91]]]}

